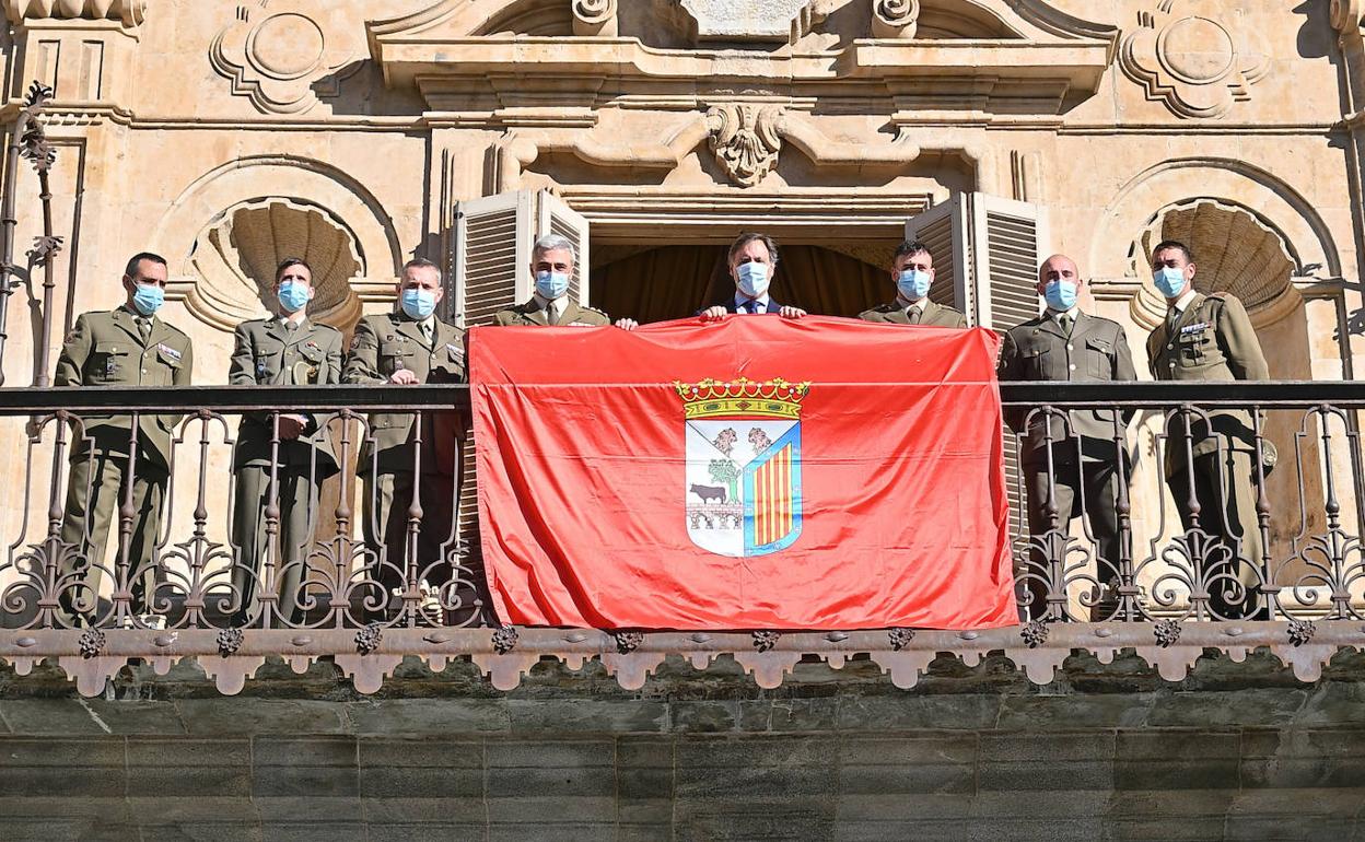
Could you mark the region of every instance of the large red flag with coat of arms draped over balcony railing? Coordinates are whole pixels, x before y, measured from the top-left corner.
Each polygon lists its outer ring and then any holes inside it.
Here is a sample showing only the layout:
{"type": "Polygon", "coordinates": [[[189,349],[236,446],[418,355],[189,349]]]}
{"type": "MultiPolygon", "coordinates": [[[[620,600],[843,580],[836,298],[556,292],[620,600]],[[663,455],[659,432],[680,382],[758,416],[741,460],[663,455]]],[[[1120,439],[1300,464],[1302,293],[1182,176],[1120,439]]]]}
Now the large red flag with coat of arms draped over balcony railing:
{"type": "Polygon", "coordinates": [[[474,328],[479,524],[519,625],[1017,622],[990,330],[474,328]]]}

